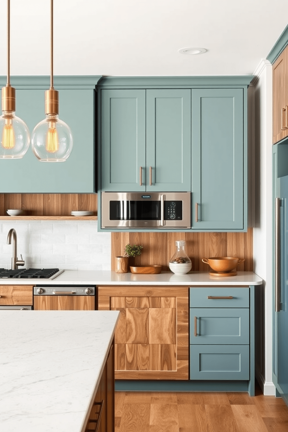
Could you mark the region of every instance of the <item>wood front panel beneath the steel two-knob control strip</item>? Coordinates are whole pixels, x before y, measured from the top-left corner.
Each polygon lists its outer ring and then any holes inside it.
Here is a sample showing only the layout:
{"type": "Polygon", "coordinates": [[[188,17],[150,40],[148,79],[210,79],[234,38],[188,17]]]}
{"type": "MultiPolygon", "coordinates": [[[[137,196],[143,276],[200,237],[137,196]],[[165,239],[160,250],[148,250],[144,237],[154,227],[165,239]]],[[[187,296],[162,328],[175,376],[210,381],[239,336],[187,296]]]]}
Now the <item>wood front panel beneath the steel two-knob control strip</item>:
{"type": "Polygon", "coordinates": [[[35,295],[35,311],[94,311],[95,297],[88,295],[35,295]]]}

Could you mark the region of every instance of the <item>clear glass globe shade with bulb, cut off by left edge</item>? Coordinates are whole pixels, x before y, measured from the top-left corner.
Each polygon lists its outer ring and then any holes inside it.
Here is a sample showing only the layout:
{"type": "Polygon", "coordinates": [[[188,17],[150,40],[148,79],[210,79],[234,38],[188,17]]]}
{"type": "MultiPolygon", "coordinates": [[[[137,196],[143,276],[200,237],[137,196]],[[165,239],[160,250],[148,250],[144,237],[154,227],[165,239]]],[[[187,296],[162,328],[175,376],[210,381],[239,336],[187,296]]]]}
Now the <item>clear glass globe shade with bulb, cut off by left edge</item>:
{"type": "Polygon", "coordinates": [[[30,133],[14,111],[3,111],[0,117],[0,159],[21,159],[28,150],[30,133]]]}

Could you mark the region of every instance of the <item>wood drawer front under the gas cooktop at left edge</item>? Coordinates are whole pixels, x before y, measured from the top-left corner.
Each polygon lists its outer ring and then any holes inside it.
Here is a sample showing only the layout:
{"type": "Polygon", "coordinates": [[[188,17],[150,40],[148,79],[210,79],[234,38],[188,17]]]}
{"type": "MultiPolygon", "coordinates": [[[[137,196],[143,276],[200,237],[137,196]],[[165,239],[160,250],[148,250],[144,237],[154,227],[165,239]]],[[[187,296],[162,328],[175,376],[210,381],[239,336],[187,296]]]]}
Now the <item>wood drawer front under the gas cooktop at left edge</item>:
{"type": "Polygon", "coordinates": [[[33,286],[0,285],[1,306],[32,306],[33,286]]]}

